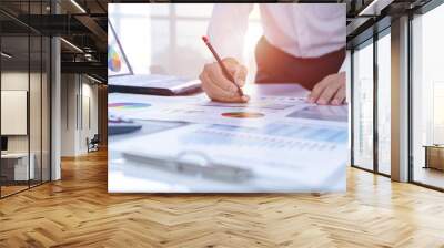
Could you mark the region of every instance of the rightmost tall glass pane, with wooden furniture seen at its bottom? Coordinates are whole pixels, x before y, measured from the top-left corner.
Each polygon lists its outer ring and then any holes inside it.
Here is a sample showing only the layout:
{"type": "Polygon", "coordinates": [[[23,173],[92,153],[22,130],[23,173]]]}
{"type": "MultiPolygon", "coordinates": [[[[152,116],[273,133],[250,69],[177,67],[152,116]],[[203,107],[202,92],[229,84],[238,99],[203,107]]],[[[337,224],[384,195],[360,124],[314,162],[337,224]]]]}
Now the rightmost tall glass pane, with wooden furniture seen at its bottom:
{"type": "Polygon", "coordinates": [[[413,20],[413,180],[444,188],[444,4],[413,20]]]}

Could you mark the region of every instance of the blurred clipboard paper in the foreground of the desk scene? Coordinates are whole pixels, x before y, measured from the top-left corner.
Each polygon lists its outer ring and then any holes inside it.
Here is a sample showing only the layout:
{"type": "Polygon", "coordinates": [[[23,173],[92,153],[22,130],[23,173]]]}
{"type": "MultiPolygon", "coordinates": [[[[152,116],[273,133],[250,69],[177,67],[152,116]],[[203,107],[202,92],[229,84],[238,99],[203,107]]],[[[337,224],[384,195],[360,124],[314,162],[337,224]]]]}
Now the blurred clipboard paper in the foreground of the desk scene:
{"type": "MultiPolygon", "coordinates": [[[[242,192],[339,192],[345,190],[346,144],[347,128],[343,125],[191,124],[128,141],[122,152],[128,163],[140,166],[138,172],[147,168],[154,175],[168,170],[174,175],[171,178],[181,175],[229,182],[234,192],[236,185],[242,192]]],[[[198,184],[190,190],[224,189],[198,184]]]]}

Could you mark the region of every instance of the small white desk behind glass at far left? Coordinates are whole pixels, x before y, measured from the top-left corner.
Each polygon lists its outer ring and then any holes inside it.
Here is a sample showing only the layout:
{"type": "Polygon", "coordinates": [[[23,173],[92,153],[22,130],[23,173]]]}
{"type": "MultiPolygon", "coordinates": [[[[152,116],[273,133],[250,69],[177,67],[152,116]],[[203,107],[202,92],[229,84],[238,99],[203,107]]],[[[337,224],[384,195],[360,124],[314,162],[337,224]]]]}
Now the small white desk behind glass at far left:
{"type": "Polygon", "coordinates": [[[28,153],[6,153],[1,154],[2,167],[11,166],[13,163],[13,180],[28,180],[36,177],[36,155],[29,154],[30,163],[28,168],[28,153]],[[4,164],[6,163],[6,164],[4,164]],[[29,178],[28,178],[29,177],[29,178]]]}

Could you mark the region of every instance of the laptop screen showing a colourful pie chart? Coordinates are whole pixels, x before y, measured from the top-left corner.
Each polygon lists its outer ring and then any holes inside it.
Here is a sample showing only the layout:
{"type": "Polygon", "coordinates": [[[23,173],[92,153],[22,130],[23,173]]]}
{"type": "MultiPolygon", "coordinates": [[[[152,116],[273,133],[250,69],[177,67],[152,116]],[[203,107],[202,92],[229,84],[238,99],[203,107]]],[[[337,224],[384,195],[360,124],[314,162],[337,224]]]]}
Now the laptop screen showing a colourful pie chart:
{"type": "Polygon", "coordinates": [[[108,76],[130,75],[131,65],[128,63],[114,28],[108,21],[108,76]]]}

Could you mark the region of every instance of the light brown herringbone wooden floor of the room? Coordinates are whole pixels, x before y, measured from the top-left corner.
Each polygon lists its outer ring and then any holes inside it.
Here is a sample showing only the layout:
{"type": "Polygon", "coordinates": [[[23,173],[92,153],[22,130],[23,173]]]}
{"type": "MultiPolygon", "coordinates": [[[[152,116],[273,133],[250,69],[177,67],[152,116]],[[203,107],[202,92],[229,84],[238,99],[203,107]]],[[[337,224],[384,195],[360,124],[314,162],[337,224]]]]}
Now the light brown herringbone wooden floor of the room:
{"type": "Polygon", "coordinates": [[[444,247],[444,194],[349,170],[346,194],[110,195],[107,154],[0,200],[0,247],[444,247]]]}

